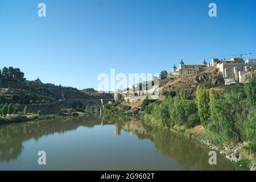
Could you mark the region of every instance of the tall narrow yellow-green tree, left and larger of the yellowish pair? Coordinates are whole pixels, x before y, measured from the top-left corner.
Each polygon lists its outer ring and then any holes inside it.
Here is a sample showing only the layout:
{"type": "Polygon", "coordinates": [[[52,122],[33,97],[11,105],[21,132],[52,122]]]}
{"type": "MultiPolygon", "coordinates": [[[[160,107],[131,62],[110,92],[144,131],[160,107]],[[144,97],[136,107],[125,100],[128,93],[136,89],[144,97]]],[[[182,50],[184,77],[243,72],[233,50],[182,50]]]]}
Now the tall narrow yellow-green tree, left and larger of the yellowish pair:
{"type": "Polygon", "coordinates": [[[208,119],[210,117],[209,93],[207,89],[201,89],[200,86],[197,86],[196,105],[201,124],[203,126],[207,126],[208,119]]]}

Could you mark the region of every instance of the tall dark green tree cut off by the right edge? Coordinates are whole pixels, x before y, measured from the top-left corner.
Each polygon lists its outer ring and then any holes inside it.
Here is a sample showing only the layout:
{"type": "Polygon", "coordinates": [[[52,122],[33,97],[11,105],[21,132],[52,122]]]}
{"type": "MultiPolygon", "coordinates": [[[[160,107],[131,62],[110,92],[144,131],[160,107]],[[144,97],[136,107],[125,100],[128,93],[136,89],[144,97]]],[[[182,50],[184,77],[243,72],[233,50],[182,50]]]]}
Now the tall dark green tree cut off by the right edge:
{"type": "Polygon", "coordinates": [[[256,106],[256,77],[252,75],[246,84],[246,94],[250,106],[256,106]]]}

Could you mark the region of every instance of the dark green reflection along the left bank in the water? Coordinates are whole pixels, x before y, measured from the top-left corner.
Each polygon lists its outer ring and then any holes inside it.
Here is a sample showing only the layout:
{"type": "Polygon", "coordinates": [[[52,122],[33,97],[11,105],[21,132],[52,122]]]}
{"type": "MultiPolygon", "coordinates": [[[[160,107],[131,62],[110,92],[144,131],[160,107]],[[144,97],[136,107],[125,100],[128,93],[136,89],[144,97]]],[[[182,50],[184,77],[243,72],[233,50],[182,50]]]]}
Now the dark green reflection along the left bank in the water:
{"type": "Polygon", "coordinates": [[[100,125],[96,118],[60,118],[48,121],[14,123],[0,127],[0,162],[18,158],[22,153],[22,142],[53,133],[63,134],[80,126],[94,127],[100,125]]]}

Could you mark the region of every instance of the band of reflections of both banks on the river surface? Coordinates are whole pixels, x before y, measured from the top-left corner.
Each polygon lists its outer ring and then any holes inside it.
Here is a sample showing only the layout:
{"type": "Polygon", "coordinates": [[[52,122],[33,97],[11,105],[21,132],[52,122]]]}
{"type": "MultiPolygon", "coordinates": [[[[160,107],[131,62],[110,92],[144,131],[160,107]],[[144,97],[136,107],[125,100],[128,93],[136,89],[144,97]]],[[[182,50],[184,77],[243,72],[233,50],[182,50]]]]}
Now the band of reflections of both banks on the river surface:
{"type": "MultiPolygon", "coordinates": [[[[171,133],[168,130],[143,125],[137,119],[120,117],[96,118],[61,118],[50,121],[34,121],[0,126],[0,164],[16,160],[22,154],[23,142],[29,139],[38,140],[40,137],[64,134],[76,130],[80,126],[94,127],[96,125],[114,125],[113,135],[122,137],[122,132],[129,132],[140,140],[149,139],[155,143],[155,151],[166,158],[174,159],[176,164],[184,169],[200,170],[236,170],[236,167],[224,158],[217,156],[217,165],[208,163],[209,149],[202,147],[196,140],[171,133]]],[[[125,143],[124,143],[125,144],[125,143]]],[[[122,147],[122,146],[121,146],[122,147]]],[[[131,150],[133,150],[131,148],[131,150]]]]}

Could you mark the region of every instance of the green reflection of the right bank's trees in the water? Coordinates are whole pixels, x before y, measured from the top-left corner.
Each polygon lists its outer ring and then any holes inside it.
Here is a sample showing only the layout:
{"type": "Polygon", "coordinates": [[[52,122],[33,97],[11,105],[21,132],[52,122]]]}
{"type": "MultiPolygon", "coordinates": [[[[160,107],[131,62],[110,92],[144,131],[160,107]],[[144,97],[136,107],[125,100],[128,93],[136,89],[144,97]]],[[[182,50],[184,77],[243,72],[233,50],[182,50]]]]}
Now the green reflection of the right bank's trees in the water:
{"type": "Polygon", "coordinates": [[[199,170],[235,170],[237,168],[224,156],[217,153],[217,165],[210,165],[209,149],[201,146],[196,140],[172,133],[166,129],[145,126],[148,133],[154,136],[156,151],[162,152],[167,158],[175,159],[183,169],[197,166],[199,170]]]}

